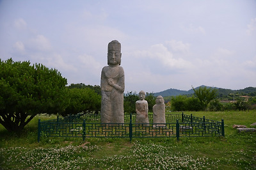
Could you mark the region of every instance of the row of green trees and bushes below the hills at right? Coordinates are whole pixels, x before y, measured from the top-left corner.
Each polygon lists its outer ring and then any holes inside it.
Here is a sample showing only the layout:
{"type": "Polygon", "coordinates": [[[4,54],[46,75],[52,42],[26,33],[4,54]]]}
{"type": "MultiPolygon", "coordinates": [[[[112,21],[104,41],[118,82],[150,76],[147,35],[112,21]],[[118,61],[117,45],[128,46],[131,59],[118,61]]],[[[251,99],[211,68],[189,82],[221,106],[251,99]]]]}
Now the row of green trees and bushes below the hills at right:
{"type": "MultiPolygon", "coordinates": [[[[245,111],[256,109],[256,97],[250,97],[248,101],[241,95],[236,96],[236,100],[228,103],[221,103],[218,98],[217,89],[200,87],[194,89],[191,96],[179,95],[170,99],[170,105],[166,108],[169,111],[245,111]]],[[[232,95],[234,98],[234,95],[232,95]]]]}

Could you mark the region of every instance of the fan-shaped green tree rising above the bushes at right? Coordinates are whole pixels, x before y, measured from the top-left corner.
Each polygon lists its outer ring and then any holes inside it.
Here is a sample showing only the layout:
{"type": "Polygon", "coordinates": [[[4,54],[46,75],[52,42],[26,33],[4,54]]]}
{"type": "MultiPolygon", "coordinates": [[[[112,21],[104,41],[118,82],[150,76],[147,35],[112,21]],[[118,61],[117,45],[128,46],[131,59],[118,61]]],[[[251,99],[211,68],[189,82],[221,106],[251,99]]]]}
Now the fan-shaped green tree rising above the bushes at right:
{"type": "Polygon", "coordinates": [[[201,86],[198,89],[193,88],[193,90],[195,92],[195,97],[198,98],[204,110],[207,108],[209,102],[216,98],[217,89],[215,88],[207,88],[206,86],[201,86]]]}

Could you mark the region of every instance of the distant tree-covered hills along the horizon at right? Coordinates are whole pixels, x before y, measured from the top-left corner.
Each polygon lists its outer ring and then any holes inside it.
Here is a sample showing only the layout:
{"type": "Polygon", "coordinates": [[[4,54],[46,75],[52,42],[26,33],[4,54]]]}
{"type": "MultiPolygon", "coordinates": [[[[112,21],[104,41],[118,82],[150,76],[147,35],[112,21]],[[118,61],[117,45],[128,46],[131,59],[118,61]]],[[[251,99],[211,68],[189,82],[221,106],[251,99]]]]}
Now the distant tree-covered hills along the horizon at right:
{"type": "MultiPolygon", "coordinates": [[[[198,89],[200,87],[205,87],[205,86],[204,85],[198,86],[195,89],[198,89]]],[[[211,88],[211,87],[208,87],[208,88],[211,88]]],[[[230,93],[233,93],[233,94],[238,93],[239,95],[256,96],[256,88],[253,88],[253,87],[237,89],[237,90],[223,89],[223,88],[216,88],[216,89],[218,89],[217,93],[218,93],[219,97],[226,97],[230,93]]],[[[166,89],[166,90],[158,92],[158,93],[154,93],[154,96],[157,97],[157,96],[161,95],[162,97],[175,97],[175,96],[179,96],[179,95],[191,95],[193,93],[194,93],[193,89],[189,89],[188,91],[186,91],[186,90],[171,88],[171,89],[166,89]]]]}

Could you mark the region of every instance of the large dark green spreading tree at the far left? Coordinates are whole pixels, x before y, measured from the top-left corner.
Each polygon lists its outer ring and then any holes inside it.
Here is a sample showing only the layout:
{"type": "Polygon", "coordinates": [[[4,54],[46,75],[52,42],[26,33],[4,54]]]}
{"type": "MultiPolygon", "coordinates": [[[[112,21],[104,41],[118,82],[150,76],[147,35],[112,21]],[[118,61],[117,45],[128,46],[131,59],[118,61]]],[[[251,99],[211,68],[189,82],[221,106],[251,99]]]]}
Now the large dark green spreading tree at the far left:
{"type": "Polygon", "coordinates": [[[55,69],[0,59],[0,77],[0,123],[8,131],[19,133],[36,114],[66,107],[67,79],[55,69]]]}

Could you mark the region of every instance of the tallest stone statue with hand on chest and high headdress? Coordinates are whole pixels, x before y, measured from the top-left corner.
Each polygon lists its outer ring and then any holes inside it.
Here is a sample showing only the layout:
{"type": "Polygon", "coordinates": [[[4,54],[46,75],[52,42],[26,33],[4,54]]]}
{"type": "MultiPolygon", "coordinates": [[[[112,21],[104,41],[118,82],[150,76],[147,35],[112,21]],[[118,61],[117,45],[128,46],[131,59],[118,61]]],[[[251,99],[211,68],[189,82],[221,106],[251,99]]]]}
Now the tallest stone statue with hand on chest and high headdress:
{"type": "Polygon", "coordinates": [[[121,43],[116,40],[108,44],[108,66],[101,72],[102,123],[124,123],[124,69],[121,64],[121,43]]]}

